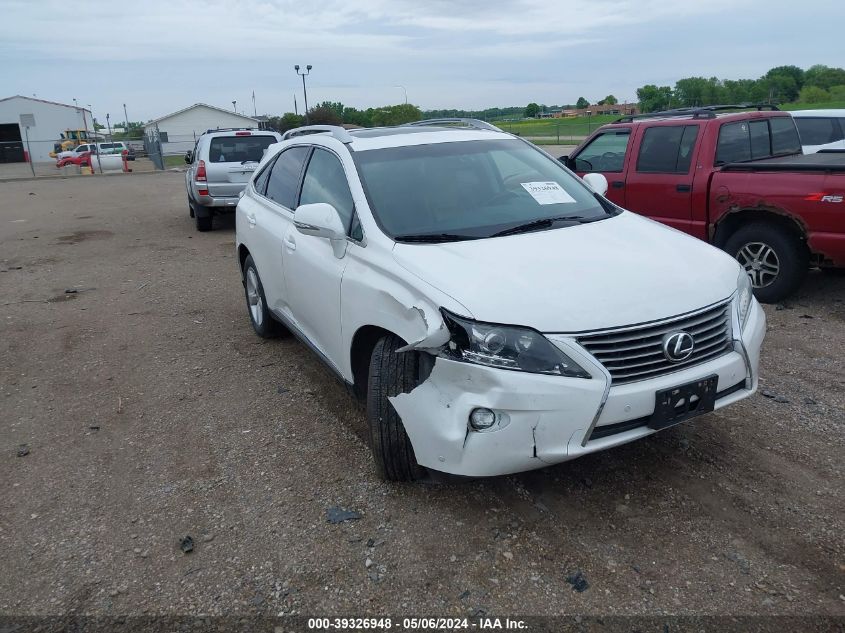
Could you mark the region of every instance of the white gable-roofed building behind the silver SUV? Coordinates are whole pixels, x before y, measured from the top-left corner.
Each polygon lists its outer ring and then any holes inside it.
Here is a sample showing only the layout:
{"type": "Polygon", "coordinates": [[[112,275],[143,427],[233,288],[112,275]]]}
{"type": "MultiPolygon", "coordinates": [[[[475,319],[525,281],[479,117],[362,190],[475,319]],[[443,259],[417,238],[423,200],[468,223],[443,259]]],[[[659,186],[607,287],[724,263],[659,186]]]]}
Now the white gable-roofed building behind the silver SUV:
{"type": "Polygon", "coordinates": [[[173,155],[194,149],[196,139],[207,130],[226,127],[257,128],[258,121],[232,110],[195,103],[184,110],[153,119],[144,126],[144,132],[148,137],[153,137],[156,127],[162,152],[165,155],[173,155]]]}

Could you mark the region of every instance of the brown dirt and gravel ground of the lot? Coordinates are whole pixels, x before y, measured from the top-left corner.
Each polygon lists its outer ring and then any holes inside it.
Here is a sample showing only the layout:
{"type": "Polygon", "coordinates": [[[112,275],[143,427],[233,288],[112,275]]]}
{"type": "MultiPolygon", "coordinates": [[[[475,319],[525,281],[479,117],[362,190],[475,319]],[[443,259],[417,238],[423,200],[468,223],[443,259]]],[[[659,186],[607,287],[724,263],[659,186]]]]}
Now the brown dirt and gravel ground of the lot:
{"type": "Polygon", "coordinates": [[[315,357],[253,334],[233,240],[181,174],[0,183],[0,615],[845,615],[845,276],[766,306],[738,405],[394,485],[315,357]]]}

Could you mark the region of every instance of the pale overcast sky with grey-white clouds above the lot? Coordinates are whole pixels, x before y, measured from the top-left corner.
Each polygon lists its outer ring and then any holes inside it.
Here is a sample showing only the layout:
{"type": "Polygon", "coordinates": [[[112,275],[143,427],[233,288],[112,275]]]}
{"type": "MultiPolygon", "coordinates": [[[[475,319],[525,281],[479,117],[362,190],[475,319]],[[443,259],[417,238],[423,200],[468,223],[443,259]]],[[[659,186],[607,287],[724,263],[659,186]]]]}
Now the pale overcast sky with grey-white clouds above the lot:
{"type": "MultiPolygon", "coordinates": [[[[685,76],[845,65],[845,0],[0,0],[0,97],[104,122],[203,102],[423,109],[636,98],[685,76]]],[[[300,110],[301,111],[301,110],[300,110]]]]}

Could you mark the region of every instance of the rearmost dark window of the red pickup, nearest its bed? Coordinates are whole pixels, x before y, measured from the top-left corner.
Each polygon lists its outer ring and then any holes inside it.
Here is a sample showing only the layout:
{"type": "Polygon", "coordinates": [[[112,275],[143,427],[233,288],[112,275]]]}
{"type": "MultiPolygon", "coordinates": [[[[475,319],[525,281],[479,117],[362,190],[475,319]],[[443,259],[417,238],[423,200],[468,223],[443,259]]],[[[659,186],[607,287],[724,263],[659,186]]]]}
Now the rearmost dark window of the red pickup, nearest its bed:
{"type": "Polygon", "coordinates": [[[726,123],[719,130],[716,164],[754,158],[784,156],[801,151],[801,141],[792,117],[726,123]]]}

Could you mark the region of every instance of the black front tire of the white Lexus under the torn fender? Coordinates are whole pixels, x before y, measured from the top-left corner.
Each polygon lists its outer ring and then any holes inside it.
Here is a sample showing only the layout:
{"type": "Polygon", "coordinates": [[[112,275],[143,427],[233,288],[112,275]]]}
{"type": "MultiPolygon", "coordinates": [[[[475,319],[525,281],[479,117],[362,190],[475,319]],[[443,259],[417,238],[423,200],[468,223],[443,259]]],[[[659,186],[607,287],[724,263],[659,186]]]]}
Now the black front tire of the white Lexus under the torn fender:
{"type": "Polygon", "coordinates": [[[396,353],[405,343],[388,335],[379,340],[370,357],[367,378],[367,421],[376,470],[387,481],[414,481],[424,476],[417,464],[402,419],[388,397],[407,393],[419,384],[416,352],[396,353]]]}

